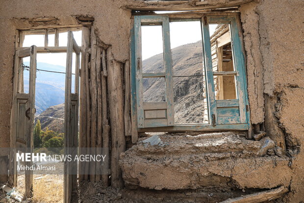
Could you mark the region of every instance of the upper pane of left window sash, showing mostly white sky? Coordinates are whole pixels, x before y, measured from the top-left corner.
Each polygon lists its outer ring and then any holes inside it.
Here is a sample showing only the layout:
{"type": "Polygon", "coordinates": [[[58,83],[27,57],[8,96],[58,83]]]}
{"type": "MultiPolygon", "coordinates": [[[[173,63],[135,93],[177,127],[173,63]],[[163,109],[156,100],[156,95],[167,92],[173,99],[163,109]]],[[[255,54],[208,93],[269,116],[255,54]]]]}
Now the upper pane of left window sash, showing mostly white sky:
{"type": "Polygon", "coordinates": [[[165,72],[162,26],[141,26],[143,73],[165,72]]]}

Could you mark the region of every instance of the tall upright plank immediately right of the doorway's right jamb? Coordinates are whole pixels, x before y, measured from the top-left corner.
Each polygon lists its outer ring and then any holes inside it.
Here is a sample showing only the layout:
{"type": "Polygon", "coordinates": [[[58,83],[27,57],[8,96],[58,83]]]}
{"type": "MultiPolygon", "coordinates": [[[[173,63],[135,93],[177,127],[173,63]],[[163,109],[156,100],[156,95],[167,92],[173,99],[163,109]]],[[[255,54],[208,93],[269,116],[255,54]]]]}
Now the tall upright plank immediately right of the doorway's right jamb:
{"type": "MultiPolygon", "coordinates": [[[[97,39],[94,28],[91,29],[91,67],[90,67],[90,94],[91,94],[91,148],[96,147],[97,140],[97,85],[96,85],[96,58],[97,58],[97,39]]],[[[91,152],[95,153],[94,149],[91,152]]],[[[90,181],[95,181],[96,162],[90,162],[90,181]]]]}

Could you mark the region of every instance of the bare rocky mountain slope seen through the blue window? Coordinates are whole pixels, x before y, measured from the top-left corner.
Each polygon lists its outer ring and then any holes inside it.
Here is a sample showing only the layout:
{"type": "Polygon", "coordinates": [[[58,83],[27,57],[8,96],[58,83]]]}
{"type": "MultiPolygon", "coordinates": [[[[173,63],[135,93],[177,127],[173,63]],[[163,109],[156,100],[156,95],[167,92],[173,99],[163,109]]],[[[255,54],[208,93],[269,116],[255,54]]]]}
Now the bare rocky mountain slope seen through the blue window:
{"type": "MultiPolygon", "coordinates": [[[[202,41],[172,49],[175,123],[203,123],[202,41]],[[185,77],[186,76],[186,77],[185,77]]],[[[164,72],[163,54],[143,61],[143,72],[164,72]]],[[[144,101],[165,101],[163,78],[144,78],[144,101]]]]}

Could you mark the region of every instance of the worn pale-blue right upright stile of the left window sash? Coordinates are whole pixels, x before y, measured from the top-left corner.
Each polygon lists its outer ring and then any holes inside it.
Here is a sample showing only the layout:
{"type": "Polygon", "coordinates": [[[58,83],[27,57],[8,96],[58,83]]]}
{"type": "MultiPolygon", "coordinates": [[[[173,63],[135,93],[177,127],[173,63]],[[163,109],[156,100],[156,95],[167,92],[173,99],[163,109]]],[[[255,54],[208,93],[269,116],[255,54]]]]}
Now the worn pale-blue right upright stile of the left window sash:
{"type": "MultiPolygon", "coordinates": [[[[168,126],[174,125],[174,100],[173,100],[173,70],[172,55],[170,45],[170,27],[169,17],[164,16],[162,23],[163,30],[163,47],[164,47],[164,63],[165,63],[165,83],[166,83],[166,101],[167,101],[167,121],[168,126]]],[[[145,127],[148,127],[145,125],[145,127]]]]}

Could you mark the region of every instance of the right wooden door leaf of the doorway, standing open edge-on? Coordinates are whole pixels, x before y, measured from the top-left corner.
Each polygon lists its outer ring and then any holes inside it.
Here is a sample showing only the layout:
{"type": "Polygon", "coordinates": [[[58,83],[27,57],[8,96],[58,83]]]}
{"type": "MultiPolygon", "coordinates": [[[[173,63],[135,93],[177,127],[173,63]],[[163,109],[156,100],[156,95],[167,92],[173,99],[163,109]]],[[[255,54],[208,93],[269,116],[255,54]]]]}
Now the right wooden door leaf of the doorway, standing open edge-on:
{"type": "MultiPolygon", "coordinates": [[[[73,32],[68,31],[67,65],[65,78],[65,154],[77,154],[78,137],[78,98],[79,98],[79,64],[80,49],[73,37],[73,32]],[[72,61],[73,52],[76,53],[75,89],[72,93],[72,61]]],[[[64,164],[64,203],[71,202],[73,189],[77,183],[77,163],[65,162],[64,164]]]]}

